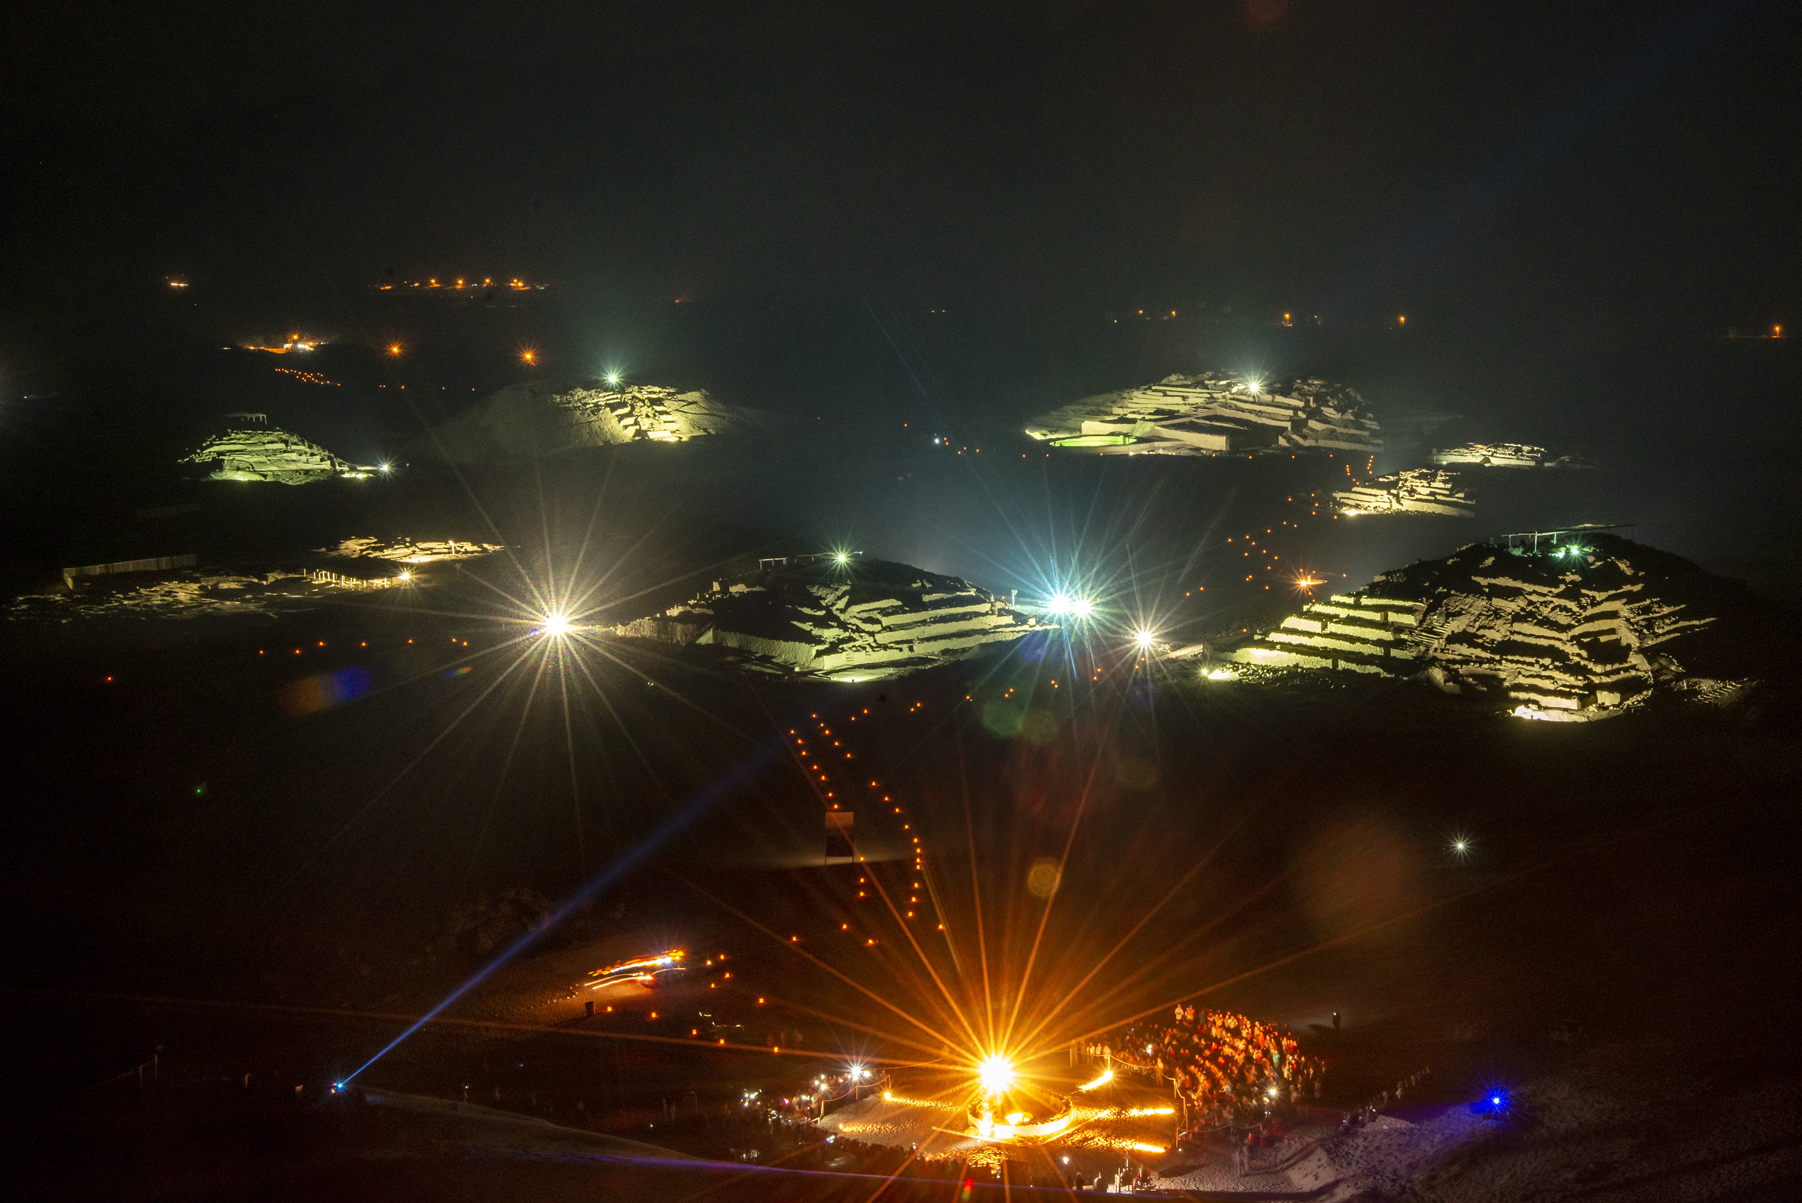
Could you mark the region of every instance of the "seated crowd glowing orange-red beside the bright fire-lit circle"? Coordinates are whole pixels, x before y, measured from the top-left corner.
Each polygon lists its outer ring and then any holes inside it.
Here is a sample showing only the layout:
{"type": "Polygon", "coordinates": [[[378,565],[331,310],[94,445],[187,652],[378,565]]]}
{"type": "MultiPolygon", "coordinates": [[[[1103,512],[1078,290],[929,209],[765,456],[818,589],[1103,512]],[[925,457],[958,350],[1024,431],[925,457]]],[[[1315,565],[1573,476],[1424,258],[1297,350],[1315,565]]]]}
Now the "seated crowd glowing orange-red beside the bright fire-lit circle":
{"type": "Polygon", "coordinates": [[[1083,1048],[1114,1068],[1171,1084],[1188,1127],[1227,1127],[1251,1115],[1321,1097],[1324,1066],[1296,1037],[1231,1010],[1175,1009],[1168,1021],[1137,1023],[1083,1048]]]}

